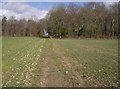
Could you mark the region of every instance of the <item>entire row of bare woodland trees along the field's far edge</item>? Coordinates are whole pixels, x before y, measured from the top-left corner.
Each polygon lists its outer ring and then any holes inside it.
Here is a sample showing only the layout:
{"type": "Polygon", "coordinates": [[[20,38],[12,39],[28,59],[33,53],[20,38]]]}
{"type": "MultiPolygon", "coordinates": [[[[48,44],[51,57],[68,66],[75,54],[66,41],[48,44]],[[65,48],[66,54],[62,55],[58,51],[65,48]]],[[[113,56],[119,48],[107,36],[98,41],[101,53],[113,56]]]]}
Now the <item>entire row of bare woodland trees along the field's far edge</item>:
{"type": "Polygon", "coordinates": [[[63,3],[55,6],[44,19],[2,18],[3,36],[43,37],[44,30],[52,38],[117,38],[118,3],[107,7],[103,2],[84,6],[63,3]]]}

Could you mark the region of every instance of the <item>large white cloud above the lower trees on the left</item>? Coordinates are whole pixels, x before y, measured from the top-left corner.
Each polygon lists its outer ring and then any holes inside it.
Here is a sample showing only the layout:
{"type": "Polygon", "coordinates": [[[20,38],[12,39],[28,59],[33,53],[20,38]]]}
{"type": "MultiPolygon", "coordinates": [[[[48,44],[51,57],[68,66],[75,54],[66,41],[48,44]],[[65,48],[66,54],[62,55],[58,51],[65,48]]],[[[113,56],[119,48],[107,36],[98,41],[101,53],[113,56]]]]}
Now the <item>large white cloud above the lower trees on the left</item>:
{"type": "Polygon", "coordinates": [[[37,9],[24,2],[3,3],[2,8],[0,8],[0,15],[5,15],[7,18],[14,16],[16,19],[29,19],[31,17],[42,19],[47,13],[47,10],[37,9]]]}

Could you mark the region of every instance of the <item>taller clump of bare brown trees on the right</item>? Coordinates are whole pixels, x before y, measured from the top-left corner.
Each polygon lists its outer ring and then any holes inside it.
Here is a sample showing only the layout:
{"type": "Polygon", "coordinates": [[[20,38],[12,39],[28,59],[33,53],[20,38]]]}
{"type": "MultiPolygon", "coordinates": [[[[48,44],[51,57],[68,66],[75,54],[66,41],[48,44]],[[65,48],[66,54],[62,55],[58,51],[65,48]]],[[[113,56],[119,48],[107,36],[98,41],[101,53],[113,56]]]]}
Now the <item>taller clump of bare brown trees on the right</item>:
{"type": "MultiPolygon", "coordinates": [[[[48,26],[54,37],[114,38],[118,36],[118,3],[107,8],[90,2],[84,7],[74,3],[60,5],[49,13],[48,26]],[[61,36],[62,35],[62,36],[61,36]]],[[[47,27],[46,26],[46,27],[47,27]]]]}

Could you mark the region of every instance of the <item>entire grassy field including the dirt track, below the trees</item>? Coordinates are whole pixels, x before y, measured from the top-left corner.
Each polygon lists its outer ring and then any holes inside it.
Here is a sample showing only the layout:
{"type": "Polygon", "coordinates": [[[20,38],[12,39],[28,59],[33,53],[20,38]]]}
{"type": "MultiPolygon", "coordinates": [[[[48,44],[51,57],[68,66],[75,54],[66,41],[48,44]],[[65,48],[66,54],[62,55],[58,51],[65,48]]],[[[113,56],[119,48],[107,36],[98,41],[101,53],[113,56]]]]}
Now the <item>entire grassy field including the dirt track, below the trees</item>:
{"type": "Polygon", "coordinates": [[[3,87],[117,86],[118,42],[3,37],[3,87]]]}

